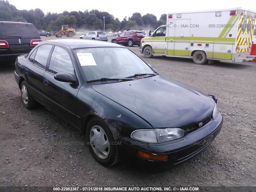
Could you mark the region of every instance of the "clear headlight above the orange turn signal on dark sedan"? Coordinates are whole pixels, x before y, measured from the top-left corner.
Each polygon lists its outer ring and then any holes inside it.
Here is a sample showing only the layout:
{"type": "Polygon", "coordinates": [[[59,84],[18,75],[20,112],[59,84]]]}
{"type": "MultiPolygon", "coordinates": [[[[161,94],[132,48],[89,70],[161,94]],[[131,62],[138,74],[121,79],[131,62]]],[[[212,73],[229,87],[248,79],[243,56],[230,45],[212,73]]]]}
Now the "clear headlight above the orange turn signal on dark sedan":
{"type": "Polygon", "coordinates": [[[180,128],[165,129],[141,129],[135,130],[131,134],[131,138],[149,143],[162,143],[172,141],[184,136],[184,131],[180,128]]]}

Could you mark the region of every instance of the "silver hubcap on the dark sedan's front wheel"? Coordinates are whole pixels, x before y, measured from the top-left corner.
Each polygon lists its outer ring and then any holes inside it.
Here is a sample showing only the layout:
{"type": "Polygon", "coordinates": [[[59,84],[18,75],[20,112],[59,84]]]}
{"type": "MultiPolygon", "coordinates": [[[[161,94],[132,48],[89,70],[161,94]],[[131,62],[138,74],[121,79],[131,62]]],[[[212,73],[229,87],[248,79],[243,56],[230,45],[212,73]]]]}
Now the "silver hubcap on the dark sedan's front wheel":
{"type": "Polygon", "coordinates": [[[104,129],[98,125],[94,125],[90,130],[90,144],[92,150],[99,158],[108,158],[110,152],[108,136],[104,129]]]}

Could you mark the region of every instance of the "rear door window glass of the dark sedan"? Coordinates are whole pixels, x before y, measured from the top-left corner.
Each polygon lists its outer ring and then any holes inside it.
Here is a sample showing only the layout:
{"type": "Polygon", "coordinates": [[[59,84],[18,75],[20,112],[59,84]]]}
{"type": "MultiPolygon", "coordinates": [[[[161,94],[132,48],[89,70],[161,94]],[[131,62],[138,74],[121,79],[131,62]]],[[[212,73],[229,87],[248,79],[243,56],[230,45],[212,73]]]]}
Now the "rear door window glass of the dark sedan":
{"type": "Polygon", "coordinates": [[[34,64],[45,69],[48,60],[49,53],[52,49],[52,45],[42,45],[38,47],[34,64]]]}

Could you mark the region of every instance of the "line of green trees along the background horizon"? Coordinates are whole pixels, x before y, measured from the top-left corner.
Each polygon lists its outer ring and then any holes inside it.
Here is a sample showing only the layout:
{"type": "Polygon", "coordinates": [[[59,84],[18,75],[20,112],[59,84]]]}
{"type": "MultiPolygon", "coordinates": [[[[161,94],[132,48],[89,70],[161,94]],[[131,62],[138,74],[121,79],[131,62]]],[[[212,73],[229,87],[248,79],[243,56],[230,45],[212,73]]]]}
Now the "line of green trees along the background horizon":
{"type": "Polygon", "coordinates": [[[133,13],[131,17],[120,21],[114,15],[99,10],[64,11],[63,13],[44,12],[40,8],[31,10],[18,10],[8,0],[0,0],[0,20],[26,21],[34,24],[37,29],[54,31],[61,25],[68,24],[75,29],[103,30],[105,17],[105,29],[108,31],[119,30],[154,30],[157,26],[166,24],[166,14],[162,14],[157,20],[154,14],[141,15],[133,13]]]}

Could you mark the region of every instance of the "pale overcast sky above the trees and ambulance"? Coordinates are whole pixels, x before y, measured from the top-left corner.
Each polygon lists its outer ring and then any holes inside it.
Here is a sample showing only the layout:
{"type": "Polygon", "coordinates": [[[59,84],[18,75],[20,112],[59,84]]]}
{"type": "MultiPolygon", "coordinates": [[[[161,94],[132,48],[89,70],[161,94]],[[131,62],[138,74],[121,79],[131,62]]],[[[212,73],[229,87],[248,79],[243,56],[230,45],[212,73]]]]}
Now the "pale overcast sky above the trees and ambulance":
{"type": "Polygon", "coordinates": [[[114,15],[120,21],[125,16],[131,17],[139,12],[142,16],[154,14],[157,19],[161,14],[196,10],[218,10],[242,7],[256,11],[255,0],[8,0],[18,10],[40,8],[44,14],[62,13],[63,11],[88,11],[98,9],[114,15]],[[243,2],[243,3],[242,3],[243,2]]]}

